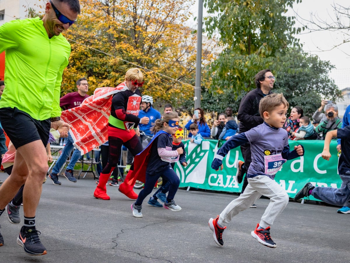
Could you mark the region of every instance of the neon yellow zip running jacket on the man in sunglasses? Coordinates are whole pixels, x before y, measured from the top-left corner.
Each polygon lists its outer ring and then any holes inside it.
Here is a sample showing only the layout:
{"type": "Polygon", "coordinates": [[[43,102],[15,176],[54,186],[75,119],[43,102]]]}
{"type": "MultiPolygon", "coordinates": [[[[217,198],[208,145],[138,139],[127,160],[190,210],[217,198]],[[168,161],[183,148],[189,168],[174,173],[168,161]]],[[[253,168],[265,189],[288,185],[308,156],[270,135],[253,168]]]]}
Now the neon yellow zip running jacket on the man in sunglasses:
{"type": "Polygon", "coordinates": [[[0,53],[5,50],[5,89],[0,108],[18,108],[33,119],[61,116],[59,97],[70,44],[48,34],[40,18],[13,20],[0,27],[0,53]]]}

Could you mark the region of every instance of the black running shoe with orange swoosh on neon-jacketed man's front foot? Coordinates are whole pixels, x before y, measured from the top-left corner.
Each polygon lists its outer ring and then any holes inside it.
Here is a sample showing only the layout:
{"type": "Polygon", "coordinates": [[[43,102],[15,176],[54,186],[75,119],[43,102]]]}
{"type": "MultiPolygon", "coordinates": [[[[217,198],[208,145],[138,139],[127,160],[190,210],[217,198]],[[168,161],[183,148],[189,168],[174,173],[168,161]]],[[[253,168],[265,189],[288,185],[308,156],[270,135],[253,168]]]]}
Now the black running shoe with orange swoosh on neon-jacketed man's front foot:
{"type": "Polygon", "coordinates": [[[40,234],[40,231],[36,229],[23,226],[17,237],[17,244],[22,246],[28,255],[45,255],[47,251],[43,244],[40,242],[40,234]]]}

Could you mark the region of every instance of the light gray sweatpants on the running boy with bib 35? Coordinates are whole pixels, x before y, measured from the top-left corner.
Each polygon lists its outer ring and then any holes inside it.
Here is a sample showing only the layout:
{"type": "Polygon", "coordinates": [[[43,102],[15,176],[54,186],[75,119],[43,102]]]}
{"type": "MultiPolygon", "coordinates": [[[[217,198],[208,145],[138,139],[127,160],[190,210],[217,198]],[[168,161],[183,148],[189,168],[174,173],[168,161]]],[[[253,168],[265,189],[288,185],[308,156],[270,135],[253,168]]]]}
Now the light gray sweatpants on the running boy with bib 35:
{"type": "Polygon", "coordinates": [[[259,225],[262,228],[272,226],[273,221],[287,206],[289,197],[285,189],[266,175],[248,178],[248,185],[244,192],[221,212],[218,220],[219,225],[228,224],[233,216],[253,205],[261,195],[270,198],[270,203],[265,209],[259,225]]]}

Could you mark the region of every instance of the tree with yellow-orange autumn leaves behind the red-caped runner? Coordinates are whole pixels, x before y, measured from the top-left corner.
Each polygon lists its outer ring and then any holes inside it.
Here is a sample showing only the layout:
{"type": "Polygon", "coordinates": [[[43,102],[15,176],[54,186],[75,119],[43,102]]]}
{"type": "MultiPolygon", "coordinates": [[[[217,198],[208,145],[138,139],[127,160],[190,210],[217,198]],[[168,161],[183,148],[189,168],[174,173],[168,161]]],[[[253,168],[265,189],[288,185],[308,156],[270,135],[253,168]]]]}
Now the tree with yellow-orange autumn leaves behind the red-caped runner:
{"type": "MultiPolygon", "coordinates": [[[[70,63],[64,71],[62,93],[75,90],[87,77],[90,93],[124,81],[127,69],[140,66],[156,107],[167,102],[179,107],[193,97],[197,36],[184,26],[192,16],[189,0],[80,0],[81,14],[64,33],[70,41],[70,63]],[[131,64],[131,63],[133,64],[131,64]],[[188,85],[188,84],[190,85],[188,85]]],[[[202,67],[212,61],[212,42],[204,44],[202,67]]]]}

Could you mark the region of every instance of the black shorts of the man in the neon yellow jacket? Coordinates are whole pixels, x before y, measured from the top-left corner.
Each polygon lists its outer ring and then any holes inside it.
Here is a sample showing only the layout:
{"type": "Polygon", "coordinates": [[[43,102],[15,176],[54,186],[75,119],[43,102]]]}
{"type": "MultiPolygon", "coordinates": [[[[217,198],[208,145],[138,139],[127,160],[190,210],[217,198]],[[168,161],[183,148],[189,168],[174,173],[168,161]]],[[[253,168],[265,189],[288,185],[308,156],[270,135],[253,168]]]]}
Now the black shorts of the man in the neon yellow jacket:
{"type": "Polygon", "coordinates": [[[36,140],[41,140],[46,147],[51,127],[50,119],[35,120],[24,111],[7,107],[0,109],[0,122],[16,149],[36,140]]]}

